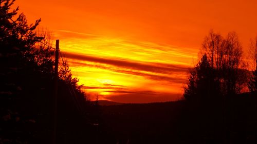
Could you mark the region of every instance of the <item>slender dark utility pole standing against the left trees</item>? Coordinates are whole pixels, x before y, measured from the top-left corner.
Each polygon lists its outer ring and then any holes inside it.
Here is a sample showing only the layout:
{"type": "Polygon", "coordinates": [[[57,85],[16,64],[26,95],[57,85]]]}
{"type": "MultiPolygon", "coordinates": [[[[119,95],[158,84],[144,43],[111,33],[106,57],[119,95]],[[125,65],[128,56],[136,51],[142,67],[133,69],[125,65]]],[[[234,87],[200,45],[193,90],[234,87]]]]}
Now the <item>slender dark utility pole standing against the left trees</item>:
{"type": "Polygon", "coordinates": [[[55,59],[55,63],[54,63],[54,113],[53,113],[53,140],[52,140],[52,144],[56,144],[58,63],[59,63],[59,39],[56,40],[56,59],[55,59]]]}

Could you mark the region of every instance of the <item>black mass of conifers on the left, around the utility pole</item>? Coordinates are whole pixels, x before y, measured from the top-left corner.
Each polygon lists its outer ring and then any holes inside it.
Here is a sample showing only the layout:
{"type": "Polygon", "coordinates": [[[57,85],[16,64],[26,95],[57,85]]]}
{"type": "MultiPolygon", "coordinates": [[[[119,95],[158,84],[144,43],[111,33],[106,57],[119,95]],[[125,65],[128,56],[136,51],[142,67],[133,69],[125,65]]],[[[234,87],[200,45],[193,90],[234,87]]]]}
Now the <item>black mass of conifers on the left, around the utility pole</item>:
{"type": "MultiPolygon", "coordinates": [[[[13,3],[0,0],[0,143],[50,143],[55,115],[54,50],[48,34],[36,32],[41,19],[28,24],[23,13],[17,15],[19,8],[11,11],[13,3]]],[[[95,108],[66,61],[62,67],[57,143],[90,142],[96,131],[95,108]]]]}

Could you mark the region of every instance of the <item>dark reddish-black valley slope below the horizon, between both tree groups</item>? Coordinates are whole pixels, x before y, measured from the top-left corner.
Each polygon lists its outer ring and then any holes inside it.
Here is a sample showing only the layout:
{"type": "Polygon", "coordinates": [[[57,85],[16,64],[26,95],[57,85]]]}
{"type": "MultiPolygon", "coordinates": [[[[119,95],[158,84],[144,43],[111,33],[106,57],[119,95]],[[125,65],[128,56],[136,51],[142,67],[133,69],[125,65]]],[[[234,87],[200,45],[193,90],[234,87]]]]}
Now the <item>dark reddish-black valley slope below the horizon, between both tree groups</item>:
{"type": "Polygon", "coordinates": [[[184,101],[176,101],[102,106],[102,119],[113,141],[119,143],[172,141],[184,105],[184,101]]]}

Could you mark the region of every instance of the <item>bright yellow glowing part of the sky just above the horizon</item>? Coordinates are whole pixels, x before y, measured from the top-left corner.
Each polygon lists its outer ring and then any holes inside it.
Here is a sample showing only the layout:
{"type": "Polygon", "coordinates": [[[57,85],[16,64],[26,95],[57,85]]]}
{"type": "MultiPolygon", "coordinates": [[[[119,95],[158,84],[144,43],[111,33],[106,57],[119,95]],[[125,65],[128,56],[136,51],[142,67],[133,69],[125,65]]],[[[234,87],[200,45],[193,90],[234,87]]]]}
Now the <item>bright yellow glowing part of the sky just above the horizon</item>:
{"type": "Polygon", "coordinates": [[[69,31],[57,33],[67,34],[75,34],[76,38],[63,38],[61,51],[92,99],[96,95],[115,100],[113,95],[145,93],[154,97],[165,93],[167,100],[176,100],[177,95],[182,95],[188,68],[197,58],[197,51],[164,44],[69,31]]]}

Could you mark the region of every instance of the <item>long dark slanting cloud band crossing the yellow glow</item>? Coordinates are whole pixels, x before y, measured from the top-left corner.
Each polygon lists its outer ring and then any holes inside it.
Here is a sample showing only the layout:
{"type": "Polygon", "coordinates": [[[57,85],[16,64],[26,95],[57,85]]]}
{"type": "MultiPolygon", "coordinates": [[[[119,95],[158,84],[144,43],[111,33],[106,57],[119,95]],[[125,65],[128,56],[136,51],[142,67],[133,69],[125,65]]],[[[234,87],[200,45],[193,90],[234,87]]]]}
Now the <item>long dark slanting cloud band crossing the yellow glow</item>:
{"type": "MultiPolygon", "coordinates": [[[[99,57],[82,56],[77,54],[66,53],[67,58],[78,59],[79,61],[70,60],[71,64],[79,67],[96,67],[100,69],[110,70],[118,73],[143,76],[145,78],[157,80],[157,81],[170,81],[170,83],[185,83],[185,77],[177,77],[177,74],[185,75],[188,72],[188,67],[179,65],[164,65],[164,64],[142,64],[136,61],[125,61],[117,59],[105,59],[99,57]],[[87,64],[86,61],[94,62],[93,64],[87,64]],[[102,65],[105,64],[105,65],[102,65]],[[112,66],[106,66],[112,65],[112,66]],[[159,65],[159,66],[158,66],[159,65]],[[115,66],[115,67],[114,67],[115,66]],[[135,71],[136,70],[136,71],[135,71]],[[150,72],[150,73],[147,73],[150,72]],[[166,74],[166,75],[163,75],[166,74]]],[[[105,86],[114,86],[111,84],[104,84],[105,86]]],[[[117,86],[117,85],[116,85],[117,86]]]]}

